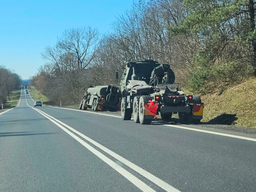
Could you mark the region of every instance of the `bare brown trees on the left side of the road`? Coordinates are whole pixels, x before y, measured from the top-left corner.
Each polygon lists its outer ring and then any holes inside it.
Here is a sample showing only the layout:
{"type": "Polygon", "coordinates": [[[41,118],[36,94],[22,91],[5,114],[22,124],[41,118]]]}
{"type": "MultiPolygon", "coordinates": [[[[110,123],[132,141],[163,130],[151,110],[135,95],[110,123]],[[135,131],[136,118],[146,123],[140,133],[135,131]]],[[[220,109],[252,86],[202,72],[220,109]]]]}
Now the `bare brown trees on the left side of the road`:
{"type": "Polygon", "coordinates": [[[11,100],[12,90],[19,89],[21,82],[20,75],[5,66],[0,66],[0,104],[6,105],[7,98],[11,100]]]}

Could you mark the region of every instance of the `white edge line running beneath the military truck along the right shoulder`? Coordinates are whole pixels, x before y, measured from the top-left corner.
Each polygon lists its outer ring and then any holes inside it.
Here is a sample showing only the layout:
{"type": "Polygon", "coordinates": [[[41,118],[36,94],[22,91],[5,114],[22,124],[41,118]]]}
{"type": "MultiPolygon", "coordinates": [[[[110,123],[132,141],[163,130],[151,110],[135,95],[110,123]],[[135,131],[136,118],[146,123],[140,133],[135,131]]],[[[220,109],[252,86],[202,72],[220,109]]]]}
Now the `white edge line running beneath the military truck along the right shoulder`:
{"type": "MultiPolygon", "coordinates": [[[[53,106],[49,106],[49,107],[53,107],[53,106]]],[[[76,109],[69,109],[69,108],[63,108],[63,107],[54,107],[54,108],[68,109],[68,110],[87,112],[87,113],[94,113],[94,112],[89,112],[89,111],[84,111],[84,110],[76,110],[76,109]]],[[[112,116],[112,117],[121,118],[120,116],[115,116],[115,115],[108,115],[108,114],[101,114],[101,113],[94,113],[94,114],[106,115],[106,116],[112,116]]],[[[163,124],[163,125],[164,126],[170,126],[170,127],[176,127],[176,128],[180,128],[180,129],[187,129],[187,130],[191,130],[191,131],[204,132],[204,133],[215,134],[215,135],[220,135],[220,136],[232,137],[232,138],[237,138],[237,139],[256,141],[255,138],[250,138],[250,137],[237,136],[237,135],[232,135],[232,134],[226,134],[226,133],[219,133],[219,132],[201,130],[201,129],[196,129],[196,128],[183,127],[183,126],[179,126],[179,125],[166,125],[166,124],[163,124]]]]}

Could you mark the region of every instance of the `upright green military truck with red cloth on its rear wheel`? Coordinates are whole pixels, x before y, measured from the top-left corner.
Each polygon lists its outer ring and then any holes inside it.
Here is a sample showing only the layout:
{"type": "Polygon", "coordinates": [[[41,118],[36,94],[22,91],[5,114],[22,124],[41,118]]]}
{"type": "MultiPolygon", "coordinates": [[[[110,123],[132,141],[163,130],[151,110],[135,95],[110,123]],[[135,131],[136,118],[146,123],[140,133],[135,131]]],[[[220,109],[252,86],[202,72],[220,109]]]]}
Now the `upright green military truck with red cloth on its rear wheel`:
{"type": "Polygon", "coordinates": [[[134,122],[150,124],[159,113],[164,121],[178,113],[183,122],[200,122],[204,106],[200,97],[186,95],[174,81],[169,64],[128,62],[120,81],[122,120],[130,120],[133,114],[134,122]]]}

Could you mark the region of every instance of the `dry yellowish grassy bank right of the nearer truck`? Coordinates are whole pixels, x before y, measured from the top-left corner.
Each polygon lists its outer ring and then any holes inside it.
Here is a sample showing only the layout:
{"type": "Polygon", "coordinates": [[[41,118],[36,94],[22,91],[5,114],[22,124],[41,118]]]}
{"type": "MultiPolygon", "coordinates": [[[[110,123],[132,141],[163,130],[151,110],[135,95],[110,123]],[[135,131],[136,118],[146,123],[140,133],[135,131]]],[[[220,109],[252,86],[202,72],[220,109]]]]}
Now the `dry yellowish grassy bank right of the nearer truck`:
{"type": "Polygon", "coordinates": [[[204,102],[202,121],[212,120],[214,123],[225,114],[227,121],[234,120],[232,125],[256,128],[256,78],[230,87],[220,96],[213,93],[201,96],[201,99],[204,102]]]}

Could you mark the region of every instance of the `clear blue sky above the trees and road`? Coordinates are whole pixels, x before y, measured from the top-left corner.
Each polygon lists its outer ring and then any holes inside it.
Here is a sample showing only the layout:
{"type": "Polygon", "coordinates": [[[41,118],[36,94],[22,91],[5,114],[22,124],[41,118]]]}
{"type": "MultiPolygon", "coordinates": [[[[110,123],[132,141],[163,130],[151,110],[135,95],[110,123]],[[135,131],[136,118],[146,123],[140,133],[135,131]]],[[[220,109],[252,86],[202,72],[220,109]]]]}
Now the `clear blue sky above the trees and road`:
{"type": "Polygon", "coordinates": [[[28,79],[46,62],[45,46],[53,46],[65,29],[110,32],[133,2],[138,0],[0,0],[0,65],[28,79]]]}

